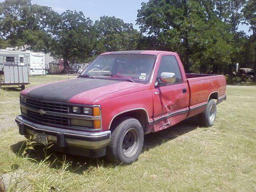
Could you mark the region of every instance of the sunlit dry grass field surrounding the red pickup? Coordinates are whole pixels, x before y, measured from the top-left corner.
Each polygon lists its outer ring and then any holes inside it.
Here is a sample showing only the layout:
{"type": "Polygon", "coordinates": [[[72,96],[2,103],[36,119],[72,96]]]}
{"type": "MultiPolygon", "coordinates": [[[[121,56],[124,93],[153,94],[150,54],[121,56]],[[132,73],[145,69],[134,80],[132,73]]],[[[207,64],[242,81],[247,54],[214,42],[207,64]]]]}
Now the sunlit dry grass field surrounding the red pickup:
{"type": "MultiPolygon", "coordinates": [[[[63,79],[67,76],[33,77],[30,86],[63,79]]],[[[0,90],[0,176],[12,174],[9,191],[17,192],[25,187],[40,192],[255,192],[256,86],[228,86],[227,95],[211,128],[201,127],[195,117],[148,134],[138,161],[115,166],[104,157],[44,152],[33,142],[22,146],[26,140],[14,123],[20,114],[19,89],[5,88],[0,90]]]]}

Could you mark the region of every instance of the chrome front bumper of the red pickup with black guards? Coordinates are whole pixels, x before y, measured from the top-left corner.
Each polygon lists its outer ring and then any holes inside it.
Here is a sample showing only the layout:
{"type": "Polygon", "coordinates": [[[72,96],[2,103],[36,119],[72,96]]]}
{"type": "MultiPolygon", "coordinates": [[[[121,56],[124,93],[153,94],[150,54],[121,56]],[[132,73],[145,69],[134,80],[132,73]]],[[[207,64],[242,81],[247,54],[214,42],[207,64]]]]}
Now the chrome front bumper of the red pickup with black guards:
{"type": "Polygon", "coordinates": [[[48,142],[54,144],[54,150],[70,154],[77,154],[74,153],[74,149],[77,149],[79,151],[78,154],[82,156],[104,156],[106,146],[110,142],[110,131],[93,133],[55,128],[30,122],[22,118],[21,115],[17,116],[15,121],[18,124],[20,134],[24,135],[26,138],[35,136],[36,133],[46,134],[48,142]],[[81,154],[82,149],[87,151],[89,155],[86,153],[81,154]],[[101,154],[94,155],[94,153],[91,152],[92,150],[94,150],[94,152],[98,151],[101,154]]]}

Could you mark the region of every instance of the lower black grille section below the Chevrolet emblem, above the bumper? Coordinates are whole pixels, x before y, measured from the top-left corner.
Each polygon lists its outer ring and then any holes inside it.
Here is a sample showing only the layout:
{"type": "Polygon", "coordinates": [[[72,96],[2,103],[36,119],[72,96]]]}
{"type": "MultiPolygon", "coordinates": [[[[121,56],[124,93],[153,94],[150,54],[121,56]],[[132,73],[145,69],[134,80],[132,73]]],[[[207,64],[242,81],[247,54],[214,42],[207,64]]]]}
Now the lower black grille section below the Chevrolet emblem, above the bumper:
{"type": "Polygon", "coordinates": [[[32,121],[43,122],[45,124],[57,124],[68,126],[68,118],[52,116],[52,115],[41,115],[39,113],[27,110],[27,117],[32,121]]]}

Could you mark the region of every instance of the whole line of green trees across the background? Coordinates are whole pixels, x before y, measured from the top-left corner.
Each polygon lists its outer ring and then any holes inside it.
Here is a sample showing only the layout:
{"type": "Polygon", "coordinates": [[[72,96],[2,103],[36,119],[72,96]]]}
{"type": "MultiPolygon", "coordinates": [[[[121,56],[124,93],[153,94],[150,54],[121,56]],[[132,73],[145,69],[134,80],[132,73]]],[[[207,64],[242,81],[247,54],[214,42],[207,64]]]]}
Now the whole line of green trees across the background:
{"type": "Polygon", "coordinates": [[[71,63],[102,52],[166,50],[180,55],[186,72],[229,74],[232,80],[236,63],[256,70],[255,0],[149,0],[136,24],[140,31],[114,16],[93,22],[76,10],[58,14],[31,0],[5,0],[0,48],[50,52],[71,63]],[[240,24],[252,34],[238,31],[240,24]]]}

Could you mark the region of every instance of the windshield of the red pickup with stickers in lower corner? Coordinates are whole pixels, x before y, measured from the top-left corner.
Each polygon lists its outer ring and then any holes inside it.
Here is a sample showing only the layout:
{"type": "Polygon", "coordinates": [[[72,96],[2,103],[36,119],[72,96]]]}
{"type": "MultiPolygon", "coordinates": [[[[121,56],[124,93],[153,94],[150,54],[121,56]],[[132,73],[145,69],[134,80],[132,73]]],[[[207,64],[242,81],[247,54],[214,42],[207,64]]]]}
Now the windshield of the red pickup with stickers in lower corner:
{"type": "Polygon", "coordinates": [[[155,63],[155,55],[106,54],[96,58],[81,76],[108,77],[148,83],[155,63]]]}

